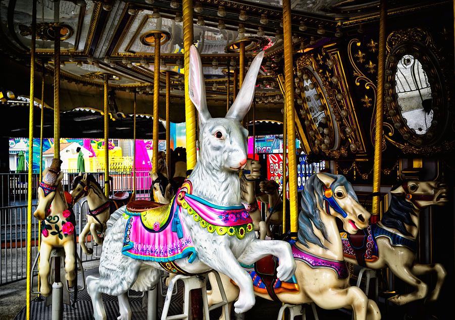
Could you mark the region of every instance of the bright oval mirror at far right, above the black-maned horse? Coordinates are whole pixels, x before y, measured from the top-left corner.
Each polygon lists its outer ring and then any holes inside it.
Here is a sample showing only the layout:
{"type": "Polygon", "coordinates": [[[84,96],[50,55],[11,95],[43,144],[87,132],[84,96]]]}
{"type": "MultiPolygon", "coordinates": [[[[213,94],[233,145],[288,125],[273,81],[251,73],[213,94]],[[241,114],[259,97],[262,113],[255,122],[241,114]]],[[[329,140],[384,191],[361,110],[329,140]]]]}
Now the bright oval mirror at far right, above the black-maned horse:
{"type": "Polygon", "coordinates": [[[433,120],[431,86],[420,61],[404,55],[397,64],[395,92],[401,116],[415,134],[424,135],[433,120]]]}

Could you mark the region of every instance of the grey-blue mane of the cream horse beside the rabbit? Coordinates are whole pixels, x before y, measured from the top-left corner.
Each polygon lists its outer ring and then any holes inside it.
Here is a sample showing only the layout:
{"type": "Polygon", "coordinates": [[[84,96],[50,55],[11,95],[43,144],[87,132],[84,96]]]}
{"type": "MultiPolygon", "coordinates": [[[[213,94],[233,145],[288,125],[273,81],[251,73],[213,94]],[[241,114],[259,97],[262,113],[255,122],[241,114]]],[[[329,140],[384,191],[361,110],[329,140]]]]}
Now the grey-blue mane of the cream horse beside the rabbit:
{"type": "MultiPolygon", "coordinates": [[[[354,189],[344,176],[332,175],[330,173],[324,174],[335,179],[332,184],[332,189],[335,190],[338,186],[342,185],[345,187],[347,193],[358,202],[354,189]]],[[[320,207],[324,207],[323,185],[324,183],[314,174],[308,178],[308,181],[305,183],[305,188],[302,191],[302,209],[299,214],[298,239],[306,247],[308,247],[309,242],[327,249],[313,231],[314,225],[314,227],[322,233],[324,239],[329,241],[326,227],[321,220],[320,211],[317,208],[318,204],[320,207]]]]}

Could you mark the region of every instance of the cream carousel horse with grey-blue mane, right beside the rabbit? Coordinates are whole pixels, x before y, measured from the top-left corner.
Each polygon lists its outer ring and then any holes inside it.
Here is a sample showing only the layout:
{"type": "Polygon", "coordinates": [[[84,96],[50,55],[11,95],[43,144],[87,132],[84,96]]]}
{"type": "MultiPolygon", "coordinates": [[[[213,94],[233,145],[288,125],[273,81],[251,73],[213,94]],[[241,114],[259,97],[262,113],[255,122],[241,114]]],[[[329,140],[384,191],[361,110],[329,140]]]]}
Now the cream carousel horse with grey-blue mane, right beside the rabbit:
{"type": "MultiPolygon", "coordinates": [[[[337,219],[350,234],[367,228],[370,219],[370,213],[358,203],[352,185],[341,175],[314,174],[305,184],[301,204],[298,240],[289,241],[297,264],[294,276],[288,281],[277,279],[277,260],[272,256],[244,265],[253,280],[255,295],[293,305],[314,302],[324,309],[346,307],[353,310],[357,320],[379,319],[376,302],[349,285],[343,259],[337,219]]],[[[212,278],[209,305],[221,301],[212,278]]],[[[225,276],[221,280],[228,301],[234,301],[239,289],[225,276]]]]}

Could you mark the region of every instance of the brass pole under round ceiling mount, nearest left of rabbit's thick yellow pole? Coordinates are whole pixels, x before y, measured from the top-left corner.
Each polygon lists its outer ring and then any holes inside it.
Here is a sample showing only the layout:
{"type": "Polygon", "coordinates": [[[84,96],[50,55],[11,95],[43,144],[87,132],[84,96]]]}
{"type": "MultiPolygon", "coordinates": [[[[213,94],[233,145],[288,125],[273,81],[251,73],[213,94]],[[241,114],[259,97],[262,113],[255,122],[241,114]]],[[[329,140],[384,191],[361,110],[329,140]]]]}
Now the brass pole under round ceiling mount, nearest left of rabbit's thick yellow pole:
{"type": "Polygon", "coordinates": [[[153,66],[153,153],[152,170],[158,169],[158,130],[160,110],[160,51],[161,34],[155,33],[155,64],[153,66]]]}

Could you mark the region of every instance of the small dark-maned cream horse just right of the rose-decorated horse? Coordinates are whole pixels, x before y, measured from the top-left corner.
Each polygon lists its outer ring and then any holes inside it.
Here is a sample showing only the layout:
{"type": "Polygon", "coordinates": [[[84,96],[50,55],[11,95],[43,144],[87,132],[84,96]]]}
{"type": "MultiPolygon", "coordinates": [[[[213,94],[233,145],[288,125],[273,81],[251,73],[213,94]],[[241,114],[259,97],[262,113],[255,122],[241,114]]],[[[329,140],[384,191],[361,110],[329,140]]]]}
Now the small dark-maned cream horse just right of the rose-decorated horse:
{"type": "Polygon", "coordinates": [[[82,251],[89,255],[93,253],[93,249],[85,245],[88,232],[92,234],[93,240],[101,245],[103,240],[98,236],[98,232],[102,234],[106,230],[106,222],[111,213],[128,203],[131,195],[128,192],[117,192],[108,199],[93,175],[79,173],[73,180],[71,196],[73,204],[82,197],[87,197],[87,224],[79,234],[79,245],[82,251]]]}

